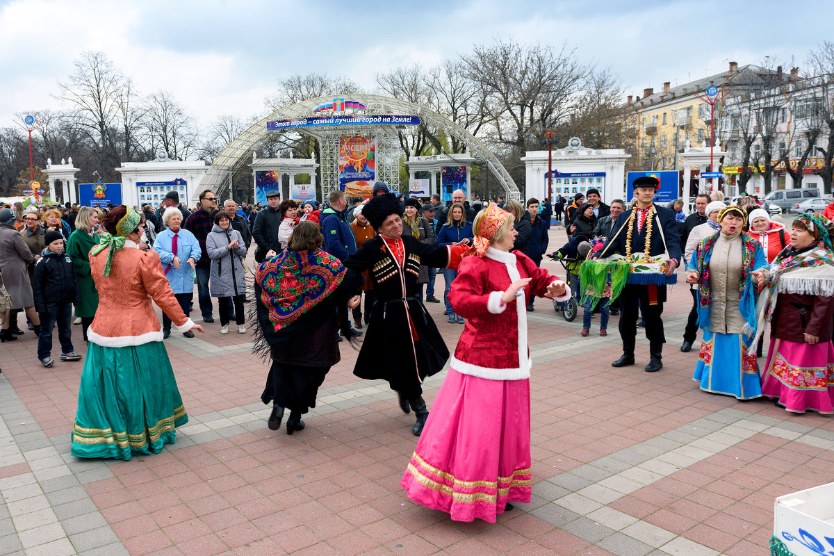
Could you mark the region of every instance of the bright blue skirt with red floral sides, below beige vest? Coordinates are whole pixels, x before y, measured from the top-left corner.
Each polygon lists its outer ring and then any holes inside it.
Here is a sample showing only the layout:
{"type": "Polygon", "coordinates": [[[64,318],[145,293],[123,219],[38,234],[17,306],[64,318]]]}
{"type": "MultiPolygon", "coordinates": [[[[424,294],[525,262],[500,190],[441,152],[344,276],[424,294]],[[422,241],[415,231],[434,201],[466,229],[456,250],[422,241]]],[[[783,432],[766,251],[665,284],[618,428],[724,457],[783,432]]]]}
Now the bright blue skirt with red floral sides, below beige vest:
{"type": "Polygon", "coordinates": [[[761,398],[761,379],[756,355],[748,355],[744,334],[722,334],[704,330],[701,352],[692,379],[701,390],[735,396],[761,398]]]}

